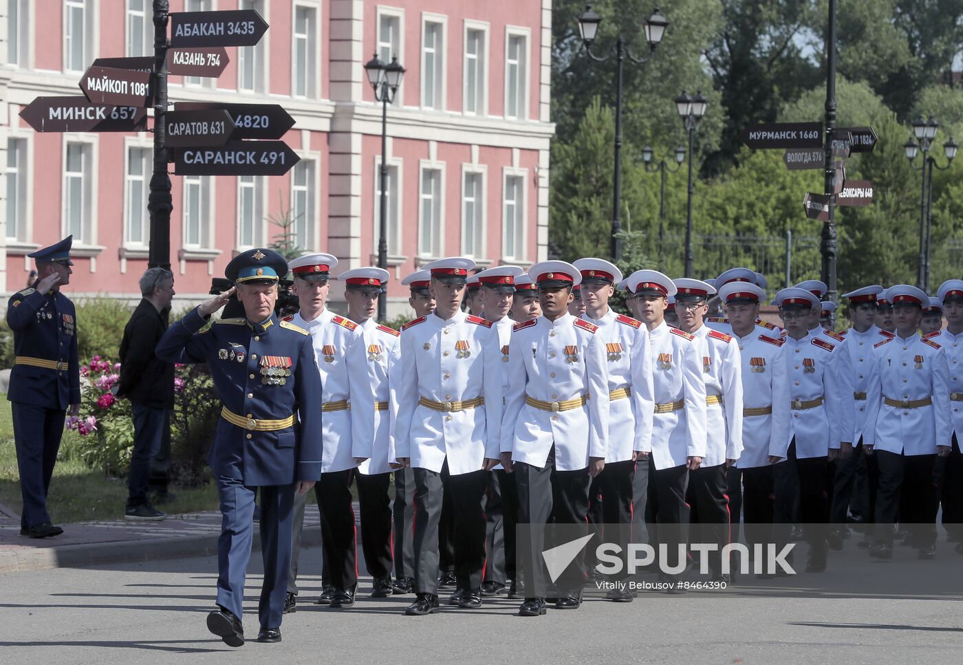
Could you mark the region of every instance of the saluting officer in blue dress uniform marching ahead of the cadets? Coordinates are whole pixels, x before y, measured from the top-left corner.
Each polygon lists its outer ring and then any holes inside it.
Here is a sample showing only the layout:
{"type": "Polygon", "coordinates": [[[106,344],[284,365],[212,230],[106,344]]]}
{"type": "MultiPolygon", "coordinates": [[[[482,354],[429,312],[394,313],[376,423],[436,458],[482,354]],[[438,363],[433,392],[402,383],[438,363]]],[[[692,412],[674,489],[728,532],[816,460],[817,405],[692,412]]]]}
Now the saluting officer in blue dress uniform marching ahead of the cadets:
{"type": "Polygon", "coordinates": [[[253,537],[254,493],[261,494],[264,585],[258,642],[279,642],[291,562],[295,492],[321,476],[321,376],[311,338],[274,314],[277,282],[288,272],[270,249],[234,257],[225,276],[235,287],[171,325],[157,355],[171,363],[207,363],[223,402],[207,462],[221,501],[218,607],[207,627],[225,644],[244,644],[241,625],[245,570],[253,537]],[[244,319],[207,324],[237,292],[244,319]]]}

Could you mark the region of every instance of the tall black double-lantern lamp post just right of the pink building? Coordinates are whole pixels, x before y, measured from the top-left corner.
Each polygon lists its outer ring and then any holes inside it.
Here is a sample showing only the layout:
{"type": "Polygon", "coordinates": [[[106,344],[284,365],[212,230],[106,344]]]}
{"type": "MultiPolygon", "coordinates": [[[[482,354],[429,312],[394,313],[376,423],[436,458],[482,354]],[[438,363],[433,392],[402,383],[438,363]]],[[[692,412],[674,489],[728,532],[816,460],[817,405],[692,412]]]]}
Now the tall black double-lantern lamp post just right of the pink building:
{"type": "Polygon", "coordinates": [[[605,63],[614,56],[616,63],[615,172],[612,177],[612,241],[610,244],[610,253],[612,255],[612,261],[617,262],[622,259],[622,241],[618,237],[619,232],[622,230],[622,224],[619,220],[619,206],[622,198],[622,63],[626,58],[635,64],[647,63],[652,57],[652,53],[656,50],[656,46],[662,41],[665,28],[668,26],[668,21],[665,20],[662,13],[659,13],[658,8],[653,11],[648,20],[643,21],[642,27],[645,31],[645,40],[649,44],[649,56],[647,58],[633,57],[621,33],[619,33],[618,38],[615,39],[615,45],[612,47],[612,53],[610,53],[610,55],[599,57],[592,53],[592,42],[595,41],[595,36],[598,33],[601,22],[602,17],[592,11],[591,5],[586,5],[586,11],[579,14],[579,34],[582,36],[582,43],[586,46],[588,57],[596,63],[605,63]]]}

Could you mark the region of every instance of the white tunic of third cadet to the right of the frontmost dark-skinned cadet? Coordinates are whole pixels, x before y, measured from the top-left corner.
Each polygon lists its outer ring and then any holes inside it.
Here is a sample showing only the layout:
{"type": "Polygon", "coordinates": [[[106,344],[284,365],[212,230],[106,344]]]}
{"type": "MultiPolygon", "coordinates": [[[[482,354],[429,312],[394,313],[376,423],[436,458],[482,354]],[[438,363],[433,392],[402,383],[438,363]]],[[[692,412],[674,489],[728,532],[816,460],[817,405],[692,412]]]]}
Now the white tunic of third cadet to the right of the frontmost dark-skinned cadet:
{"type": "MultiPolygon", "coordinates": [[[[722,399],[706,407],[704,467],[716,467],[742,452],[742,360],[739,344],[726,333],[700,325],[692,333],[702,345],[706,396],[722,399]]],[[[715,400],[714,400],[715,401],[715,400]]]]}

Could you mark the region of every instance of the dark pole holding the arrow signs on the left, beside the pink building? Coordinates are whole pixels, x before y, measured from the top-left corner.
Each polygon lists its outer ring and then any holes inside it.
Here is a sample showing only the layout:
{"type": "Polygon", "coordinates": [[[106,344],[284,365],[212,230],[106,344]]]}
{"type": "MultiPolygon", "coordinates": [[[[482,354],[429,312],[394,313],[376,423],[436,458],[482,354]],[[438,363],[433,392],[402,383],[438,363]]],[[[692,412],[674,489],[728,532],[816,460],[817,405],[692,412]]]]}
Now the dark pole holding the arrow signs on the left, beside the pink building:
{"type": "Polygon", "coordinates": [[[168,149],[165,147],[168,110],[169,1],[154,0],[154,170],[150,177],[147,211],[150,213],[150,248],[147,266],[170,269],[170,197],[168,149]]]}

